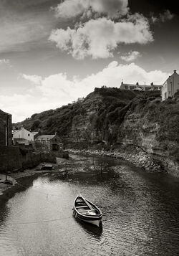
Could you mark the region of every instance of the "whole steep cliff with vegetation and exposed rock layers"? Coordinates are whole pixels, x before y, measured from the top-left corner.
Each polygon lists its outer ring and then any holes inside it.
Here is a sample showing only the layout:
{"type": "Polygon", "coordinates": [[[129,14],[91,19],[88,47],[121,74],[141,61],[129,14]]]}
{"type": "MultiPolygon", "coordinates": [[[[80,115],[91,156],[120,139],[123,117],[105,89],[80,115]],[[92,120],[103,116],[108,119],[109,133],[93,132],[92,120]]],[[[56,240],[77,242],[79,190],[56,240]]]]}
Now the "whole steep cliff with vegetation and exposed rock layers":
{"type": "Polygon", "coordinates": [[[179,176],[178,95],[161,102],[158,91],[96,88],[82,103],[34,114],[23,124],[42,133],[57,131],[68,148],[137,148],[179,176]]]}

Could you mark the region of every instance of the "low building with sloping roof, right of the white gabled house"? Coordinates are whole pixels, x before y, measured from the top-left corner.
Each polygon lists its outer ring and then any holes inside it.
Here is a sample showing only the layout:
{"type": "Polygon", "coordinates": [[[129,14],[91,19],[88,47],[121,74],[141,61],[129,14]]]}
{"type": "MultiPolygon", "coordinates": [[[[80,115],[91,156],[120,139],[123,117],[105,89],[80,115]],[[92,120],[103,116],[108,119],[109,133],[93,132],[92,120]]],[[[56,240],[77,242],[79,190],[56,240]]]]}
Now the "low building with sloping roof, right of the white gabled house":
{"type": "Polygon", "coordinates": [[[57,134],[41,135],[35,139],[36,146],[42,146],[42,149],[48,151],[62,151],[63,143],[57,134]]]}

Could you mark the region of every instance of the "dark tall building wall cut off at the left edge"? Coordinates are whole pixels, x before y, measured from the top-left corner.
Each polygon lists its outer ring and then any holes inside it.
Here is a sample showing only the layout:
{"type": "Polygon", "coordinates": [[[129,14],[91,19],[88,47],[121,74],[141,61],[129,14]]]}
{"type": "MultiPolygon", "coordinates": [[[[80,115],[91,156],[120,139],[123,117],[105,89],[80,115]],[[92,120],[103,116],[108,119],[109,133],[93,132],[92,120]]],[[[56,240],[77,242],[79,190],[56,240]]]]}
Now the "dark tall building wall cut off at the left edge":
{"type": "Polygon", "coordinates": [[[11,127],[11,115],[0,110],[0,146],[11,145],[11,127]]]}

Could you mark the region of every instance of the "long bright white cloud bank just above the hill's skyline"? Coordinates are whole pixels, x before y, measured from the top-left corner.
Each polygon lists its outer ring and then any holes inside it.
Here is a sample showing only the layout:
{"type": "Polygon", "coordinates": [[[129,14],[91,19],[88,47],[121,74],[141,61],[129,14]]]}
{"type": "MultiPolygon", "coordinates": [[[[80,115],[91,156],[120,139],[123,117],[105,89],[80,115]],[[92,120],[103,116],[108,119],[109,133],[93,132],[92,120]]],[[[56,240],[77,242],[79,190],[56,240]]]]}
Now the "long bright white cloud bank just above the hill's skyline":
{"type": "MultiPolygon", "coordinates": [[[[0,109],[11,113],[14,122],[24,120],[34,113],[39,113],[52,108],[71,103],[79,97],[87,96],[95,87],[107,85],[107,87],[120,87],[120,83],[144,83],[163,84],[168,73],[160,70],[145,71],[142,67],[131,63],[119,65],[113,61],[100,72],[88,75],[84,79],[73,77],[71,80],[66,74],[54,74],[40,78],[41,83],[34,80],[34,89],[27,90],[24,95],[14,94],[11,96],[0,95],[0,109]]],[[[29,80],[29,76],[24,75],[29,80]]],[[[35,75],[34,77],[39,77],[35,75]]],[[[32,80],[30,80],[32,82],[32,80]]]]}

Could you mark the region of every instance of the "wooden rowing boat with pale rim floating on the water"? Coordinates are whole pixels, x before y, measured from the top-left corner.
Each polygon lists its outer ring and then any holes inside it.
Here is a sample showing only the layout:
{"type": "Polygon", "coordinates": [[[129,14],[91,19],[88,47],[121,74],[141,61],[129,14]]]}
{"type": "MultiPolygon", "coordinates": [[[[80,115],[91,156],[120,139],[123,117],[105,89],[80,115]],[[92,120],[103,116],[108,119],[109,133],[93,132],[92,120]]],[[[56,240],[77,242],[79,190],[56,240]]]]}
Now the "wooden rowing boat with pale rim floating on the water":
{"type": "Polygon", "coordinates": [[[100,227],[102,212],[95,206],[95,204],[92,204],[92,202],[85,199],[82,195],[78,195],[76,199],[74,199],[73,214],[75,218],[82,222],[87,222],[100,227]]]}

